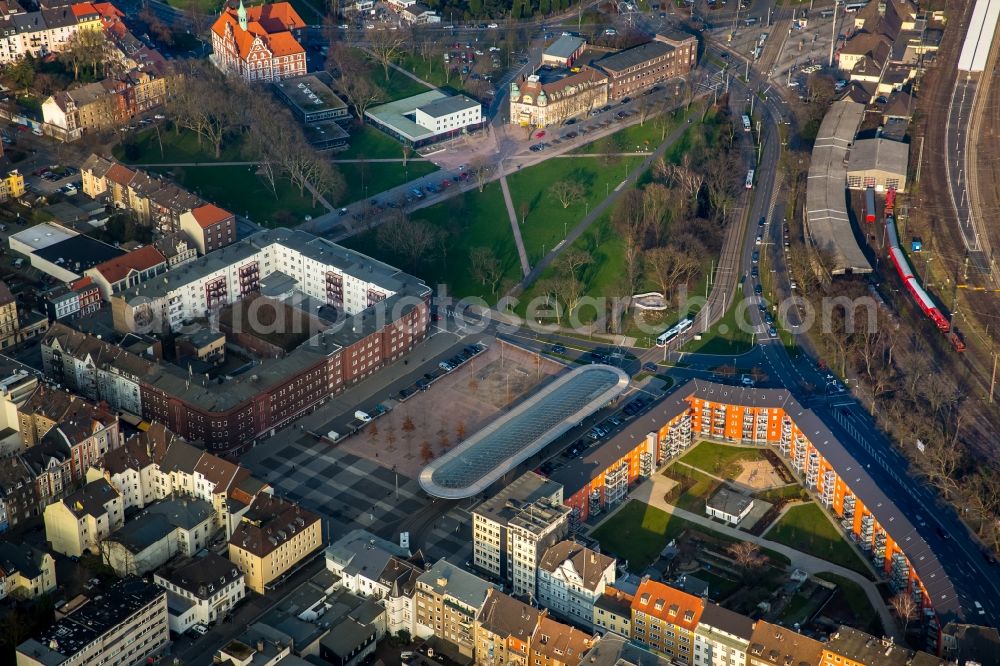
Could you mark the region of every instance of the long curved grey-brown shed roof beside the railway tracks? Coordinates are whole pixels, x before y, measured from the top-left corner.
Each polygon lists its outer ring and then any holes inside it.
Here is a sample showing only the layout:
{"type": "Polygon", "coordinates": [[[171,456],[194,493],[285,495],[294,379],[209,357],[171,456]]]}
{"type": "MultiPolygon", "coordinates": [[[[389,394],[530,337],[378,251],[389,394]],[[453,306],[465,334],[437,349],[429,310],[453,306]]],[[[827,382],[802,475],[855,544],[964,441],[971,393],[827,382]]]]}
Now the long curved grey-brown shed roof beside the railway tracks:
{"type": "Polygon", "coordinates": [[[820,123],[806,186],[806,229],[812,242],[833,257],[834,275],[871,273],[847,214],[847,155],[864,118],[865,105],[834,102],[820,123]]]}

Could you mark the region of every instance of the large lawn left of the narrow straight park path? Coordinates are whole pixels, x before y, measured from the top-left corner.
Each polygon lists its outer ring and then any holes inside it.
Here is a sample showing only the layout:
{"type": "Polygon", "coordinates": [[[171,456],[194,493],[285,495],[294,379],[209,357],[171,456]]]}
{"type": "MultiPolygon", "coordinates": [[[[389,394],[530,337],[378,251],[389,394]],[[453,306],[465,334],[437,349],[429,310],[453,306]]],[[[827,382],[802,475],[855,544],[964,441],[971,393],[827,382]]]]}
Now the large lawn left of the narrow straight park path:
{"type": "Polygon", "coordinates": [[[391,248],[379,246],[377,229],[351,237],[344,245],[403,267],[435,288],[447,285],[439,291],[439,297],[447,293],[456,298],[473,296],[496,302],[496,296],[476,282],[470,273],[469,252],[474,247],[493,249],[506,271],[505,281],[512,284],[520,279],[517,249],[499,183],[489,183],[482,193],[472,190],[422,208],[412,213],[410,219],[423,220],[445,232],[444,256],[435,256],[419,266],[407,266],[391,248]]]}

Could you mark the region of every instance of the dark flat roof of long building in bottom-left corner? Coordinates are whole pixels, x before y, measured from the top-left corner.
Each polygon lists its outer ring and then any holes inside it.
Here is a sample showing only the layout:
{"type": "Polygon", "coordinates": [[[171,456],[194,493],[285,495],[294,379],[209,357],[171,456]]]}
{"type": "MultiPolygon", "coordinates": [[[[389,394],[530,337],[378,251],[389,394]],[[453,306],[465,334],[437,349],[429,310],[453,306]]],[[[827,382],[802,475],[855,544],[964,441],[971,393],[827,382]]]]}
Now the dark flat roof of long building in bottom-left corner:
{"type": "Polygon", "coordinates": [[[140,610],[165,603],[166,592],[135,578],[112,585],[47,629],[17,647],[17,651],[47,666],[57,666],[100,636],[125,623],[140,610]]]}

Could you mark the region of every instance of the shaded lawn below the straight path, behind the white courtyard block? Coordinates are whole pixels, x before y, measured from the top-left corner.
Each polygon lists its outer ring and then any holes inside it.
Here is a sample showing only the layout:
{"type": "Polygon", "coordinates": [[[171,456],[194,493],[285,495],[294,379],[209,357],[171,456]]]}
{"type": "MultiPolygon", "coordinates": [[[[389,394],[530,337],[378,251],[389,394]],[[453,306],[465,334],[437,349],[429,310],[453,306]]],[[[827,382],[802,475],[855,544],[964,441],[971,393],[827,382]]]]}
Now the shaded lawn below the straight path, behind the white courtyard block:
{"type": "Polygon", "coordinates": [[[306,215],[320,215],[321,206],[312,205],[306,192],[300,196],[298,188],[287,180],[278,181],[278,195],[271,192],[267,183],[258,178],[253,167],[199,166],[159,169],[169,172],[181,187],[206,201],[222,206],[238,215],[264,226],[294,226],[306,215]]]}

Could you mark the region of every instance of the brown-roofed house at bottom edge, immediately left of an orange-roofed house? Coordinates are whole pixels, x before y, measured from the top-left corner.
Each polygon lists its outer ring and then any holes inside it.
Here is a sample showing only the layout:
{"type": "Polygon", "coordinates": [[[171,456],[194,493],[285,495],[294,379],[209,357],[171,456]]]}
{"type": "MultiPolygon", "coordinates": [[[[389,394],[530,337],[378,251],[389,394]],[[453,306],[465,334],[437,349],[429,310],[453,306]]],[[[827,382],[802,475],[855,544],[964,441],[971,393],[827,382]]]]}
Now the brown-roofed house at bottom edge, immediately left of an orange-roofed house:
{"type": "Polygon", "coordinates": [[[500,590],[490,590],[476,614],[476,666],[531,664],[531,635],[542,613],[500,590]]]}

